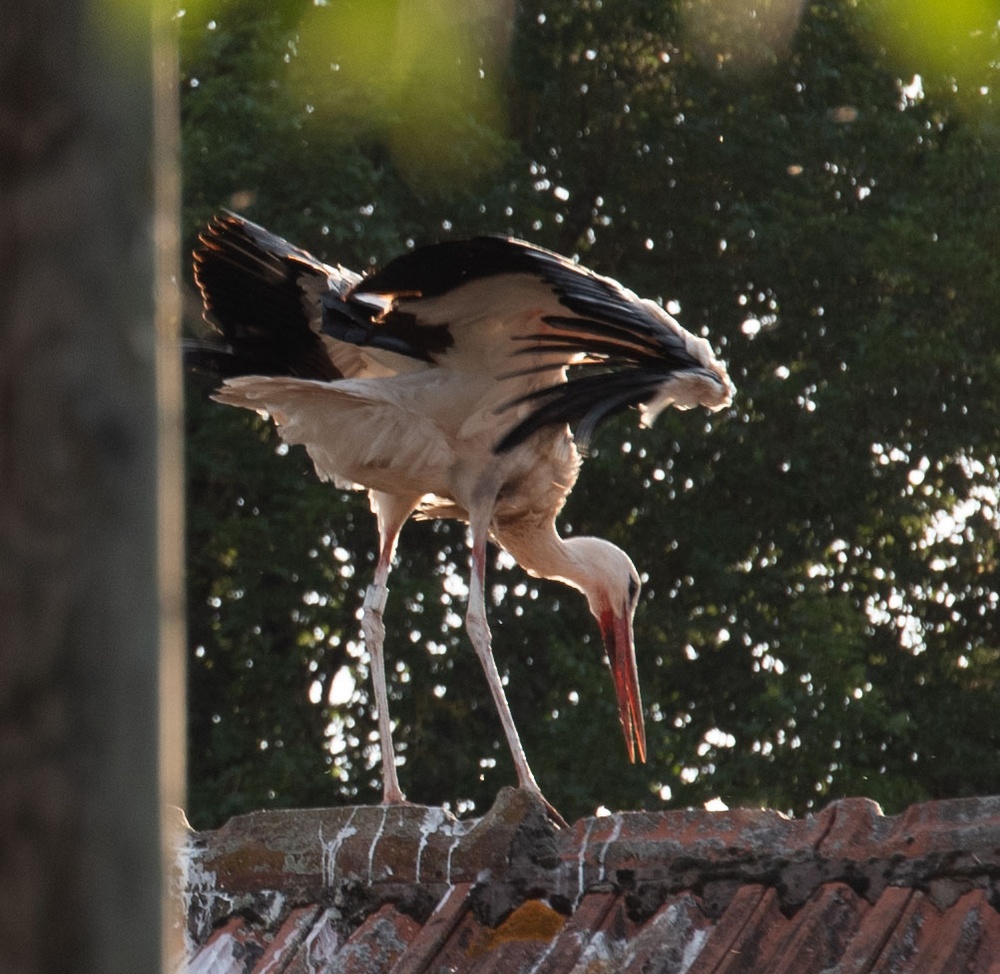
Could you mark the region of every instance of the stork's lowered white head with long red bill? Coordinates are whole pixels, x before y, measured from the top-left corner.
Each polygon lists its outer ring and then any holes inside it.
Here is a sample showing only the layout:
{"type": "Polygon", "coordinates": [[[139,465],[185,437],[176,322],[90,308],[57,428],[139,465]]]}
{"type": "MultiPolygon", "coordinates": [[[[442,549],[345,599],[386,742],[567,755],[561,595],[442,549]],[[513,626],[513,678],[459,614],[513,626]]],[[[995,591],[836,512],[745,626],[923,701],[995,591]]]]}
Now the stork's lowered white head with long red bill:
{"type": "Polygon", "coordinates": [[[646,760],[646,730],[635,665],[632,616],[639,601],[639,573],[621,548],[601,538],[569,538],[579,577],[570,584],[587,596],[587,603],[604,638],[618,697],[618,717],[630,761],[646,760]]]}

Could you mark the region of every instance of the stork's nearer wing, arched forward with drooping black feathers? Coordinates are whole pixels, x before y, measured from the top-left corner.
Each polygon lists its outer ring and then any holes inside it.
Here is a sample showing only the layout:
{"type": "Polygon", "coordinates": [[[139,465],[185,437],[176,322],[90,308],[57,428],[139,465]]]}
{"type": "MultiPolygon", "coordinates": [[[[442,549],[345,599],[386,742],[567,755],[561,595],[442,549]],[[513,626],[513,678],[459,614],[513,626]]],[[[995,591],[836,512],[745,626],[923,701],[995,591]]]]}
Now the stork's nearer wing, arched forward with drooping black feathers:
{"type": "Polygon", "coordinates": [[[511,406],[531,404],[498,452],[553,423],[573,424],[585,444],[601,420],[628,406],[651,423],[668,405],[731,402],[725,366],[703,338],[655,302],[524,241],[419,248],[351,289],[351,298],[363,295],[388,302],[366,343],[378,345],[383,328],[403,334],[437,366],[490,373],[510,383],[511,406]],[[579,368],[567,375],[569,366],[579,368]]]}

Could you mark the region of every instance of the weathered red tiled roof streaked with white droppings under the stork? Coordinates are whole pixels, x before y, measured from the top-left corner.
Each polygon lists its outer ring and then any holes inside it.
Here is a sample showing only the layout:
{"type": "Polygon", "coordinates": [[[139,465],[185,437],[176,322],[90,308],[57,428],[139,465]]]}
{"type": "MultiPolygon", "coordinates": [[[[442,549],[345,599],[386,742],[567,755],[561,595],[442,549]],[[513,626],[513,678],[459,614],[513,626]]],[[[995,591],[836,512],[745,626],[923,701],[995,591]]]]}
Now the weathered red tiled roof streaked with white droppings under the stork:
{"type": "Polygon", "coordinates": [[[508,789],[258,812],[180,861],[191,974],[1000,974],[1000,797],[554,831],[508,789]]]}

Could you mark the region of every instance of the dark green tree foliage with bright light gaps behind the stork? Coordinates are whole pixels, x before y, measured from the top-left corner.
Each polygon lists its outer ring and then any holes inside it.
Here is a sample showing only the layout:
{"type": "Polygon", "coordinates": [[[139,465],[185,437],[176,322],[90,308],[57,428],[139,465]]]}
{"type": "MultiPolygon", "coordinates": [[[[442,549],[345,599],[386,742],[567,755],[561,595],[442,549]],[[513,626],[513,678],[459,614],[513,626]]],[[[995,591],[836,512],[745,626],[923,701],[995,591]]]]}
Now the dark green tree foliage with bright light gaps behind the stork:
{"type": "MultiPolygon", "coordinates": [[[[730,363],[727,414],[602,430],[564,513],[646,576],[647,765],[627,764],[582,599],[503,558],[488,579],[512,709],[567,816],[1000,790],[996,25],[970,92],[860,0],[753,10],[524,0],[506,33],[472,24],[478,59],[417,120],[317,56],[323,5],[182,20],[191,242],[220,206],[359,269],[508,231],[676,304],[730,363]],[[424,164],[400,148],[417,123],[445,146],[424,164]]],[[[377,800],[364,497],[191,391],[193,820],[377,800]]],[[[407,526],[390,694],[409,796],[481,810],[512,772],[465,573],[459,525],[407,526]]]]}

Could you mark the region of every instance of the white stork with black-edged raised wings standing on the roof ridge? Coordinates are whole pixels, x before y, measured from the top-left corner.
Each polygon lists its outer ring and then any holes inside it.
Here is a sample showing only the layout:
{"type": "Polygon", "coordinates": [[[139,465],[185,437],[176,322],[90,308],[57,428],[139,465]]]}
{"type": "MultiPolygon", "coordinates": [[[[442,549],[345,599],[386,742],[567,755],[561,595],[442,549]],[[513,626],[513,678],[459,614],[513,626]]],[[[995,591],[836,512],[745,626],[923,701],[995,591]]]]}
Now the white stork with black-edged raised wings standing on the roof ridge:
{"type": "Polygon", "coordinates": [[[322,480],[366,489],[380,550],[362,612],[382,750],[383,801],[402,802],[393,760],[382,612],[411,514],[469,525],[466,629],[514,758],[541,794],[493,660],[486,543],[529,574],[581,591],[601,630],[629,758],[646,738],[632,640],[639,576],[600,538],[555,519],[580,468],[576,441],[627,406],[721,409],[733,386],[708,343],[653,301],[557,254],[501,236],[420,247],[361,277],[234,214],[194,255],[218,334],[189,361],[225,378],[214,398],[266,412],[322,480]],[[570,367],[578,366],[568,372],[570,367]]]}

